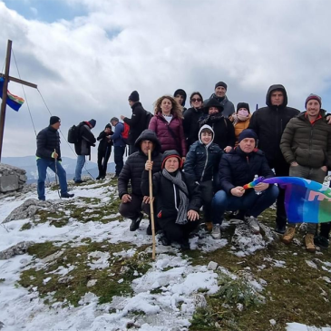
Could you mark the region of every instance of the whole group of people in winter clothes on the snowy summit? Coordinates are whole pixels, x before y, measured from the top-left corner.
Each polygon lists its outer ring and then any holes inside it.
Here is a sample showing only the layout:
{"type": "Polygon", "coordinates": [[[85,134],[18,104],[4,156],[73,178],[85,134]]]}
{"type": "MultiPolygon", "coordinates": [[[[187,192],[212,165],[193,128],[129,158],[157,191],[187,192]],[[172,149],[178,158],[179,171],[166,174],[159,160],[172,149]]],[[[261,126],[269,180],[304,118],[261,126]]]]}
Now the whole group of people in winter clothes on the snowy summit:
{"type": "MultiPolygon", "coordinates": [[[[285,243],[293,240],[296,225],[287,225],[285,191],[266,183],[248,190],[244,185],[255,176],[290,175],[324,181],[327,169],[331,168],[331,125],[321,108],[321,98],[310,94],[306,112],[300,113],[287,106],[284,86],[272,85],[267,92],[267,106],[251,114],[247,102],[239,102],[235,110],[227,90],[226,83],[216,83],[215,92],[204,101],[200,92],[192,92],[189,109],[185,108],[187,94],[182,89],[173,97],[164,95],[155,102],[151,121],[146,120],[147,112],[139,93],[134,91],[129,96],[131,118],[121,116],[130,125],[129,139],[123,139],[124,125],[116,117],[111,120],[114,131],[107,124],[101,132],[98,179],[105,176],[113,145],[115,176],[122,200],[120,213],[131,219],[131,231],[139,228],[142,211],[150,215],[148,171],[151,170],[155,223],[156,229],[162,230],[163,245],[175,241],[183,249],[190,248],[189,235],[200,224],[202,206],[204,222],[214,239],[221,237],[220,225],[227,211],[235,211],[236,218],[244,220],[258,234],[258,215],[276,200],[275,231],[283,235],[285,243]],[[124,163],[127,143],[130,155],[124,163]],[[149,150],[151,161],[148,161],[149,150]]],[[[82,130],[91,133],[95,121],[81,124],[82,130]]],[[[53,126],[50,123],[44,130],[53,126]]],[[[82,154],[83,144],[91,148],[95,143],[92,138],[80,141],[81,150],[75,144],[77,154],[79,151],[81,155],[89,155],[82,154]]],[[[52,153],[48,158],[56,156],[52,153]]],[[[37,150],[38,156],[42,157],[37,150]]],[[[78,183],[82,180],[79,172],[82,163],[77,159],[74,180],[78,183]]],[[[68,195],[65,188],[61,192],[63,197],[68,195]]],[[[39,181],[38,197],[44,198],[43,190],[39,194],[39,181]]],[[[305,237],[307,250],[315,251],[316,245],[327,248],[329,232],[330,223],[323,224],[319,232],[316,224],[309,223],[305,237]]],[[[151,221],[147,233],[151,234],[151,221]]]]}

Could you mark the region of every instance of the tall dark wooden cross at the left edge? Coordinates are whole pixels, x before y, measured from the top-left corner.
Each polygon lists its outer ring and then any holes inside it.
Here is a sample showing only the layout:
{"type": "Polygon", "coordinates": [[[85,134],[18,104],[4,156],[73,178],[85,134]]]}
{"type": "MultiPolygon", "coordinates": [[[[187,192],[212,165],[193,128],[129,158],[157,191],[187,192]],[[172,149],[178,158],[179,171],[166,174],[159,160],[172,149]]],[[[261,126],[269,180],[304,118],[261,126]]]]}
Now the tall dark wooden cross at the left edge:
{"type": "Polygon", "coordinates": [[[13,81],[16,83],[21,83],[26,86],[34,87],[34,89],[38,88],[38,86],[34,83],[29,83],[22,81],[21,79],[11,77],[9,75],[9,68],[10,68],[10,57],[12,54],[12,41],[8,40],[7,44],[7,54],[5,57],[5,74],[0,73],[0,77],[3,77],[4,88],[3,88],[3,102],[1,103],[1,113],[0,113],[0,161],[1,161],[1,154],[3,151],[3,140],[4,140],[4,130],[5,130],[5,106],[7,102],[7,90],[8,90],[8,83],[9,81],[13,81]]]}

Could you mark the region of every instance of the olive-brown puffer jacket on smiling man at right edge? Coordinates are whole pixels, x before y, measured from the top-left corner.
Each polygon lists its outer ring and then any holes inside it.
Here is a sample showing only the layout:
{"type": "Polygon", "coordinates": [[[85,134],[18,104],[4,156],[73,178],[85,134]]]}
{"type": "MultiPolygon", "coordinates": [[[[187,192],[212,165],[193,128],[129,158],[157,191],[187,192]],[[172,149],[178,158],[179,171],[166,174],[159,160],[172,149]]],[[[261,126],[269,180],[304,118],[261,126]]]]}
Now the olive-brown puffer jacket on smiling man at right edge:
{"type": "Polygon", "coordinates": [[[331,167],[331,126],[324,117],[311,123],[303,112],[288,122],[280,149],[288,163],[297,161],[309,168],[331,167]]]}

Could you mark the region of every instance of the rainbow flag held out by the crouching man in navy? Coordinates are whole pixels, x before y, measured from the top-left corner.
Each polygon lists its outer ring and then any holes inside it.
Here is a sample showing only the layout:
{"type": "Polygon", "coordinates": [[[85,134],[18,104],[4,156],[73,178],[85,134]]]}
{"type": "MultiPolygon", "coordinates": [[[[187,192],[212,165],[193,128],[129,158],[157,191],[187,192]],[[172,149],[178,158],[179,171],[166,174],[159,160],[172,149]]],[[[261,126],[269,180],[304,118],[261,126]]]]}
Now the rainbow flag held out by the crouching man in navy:
{"type": "Polygon", "coordinates": [[[299,177],[274,177],[264,183],[285,189],[285,209],[290,223],[331,221],[331,189],[314,180],[299,177]]]}

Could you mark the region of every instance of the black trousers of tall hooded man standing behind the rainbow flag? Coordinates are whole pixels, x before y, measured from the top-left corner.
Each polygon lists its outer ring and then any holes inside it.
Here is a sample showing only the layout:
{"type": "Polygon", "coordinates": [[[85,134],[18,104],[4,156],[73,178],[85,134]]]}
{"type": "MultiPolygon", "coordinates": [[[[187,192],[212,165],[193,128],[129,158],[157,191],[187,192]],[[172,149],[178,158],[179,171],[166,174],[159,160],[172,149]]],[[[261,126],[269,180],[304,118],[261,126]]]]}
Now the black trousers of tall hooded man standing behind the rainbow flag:
{"type": "MultiPolygon", "coordinates": [[[[269,162],[269,167],[275,170],[276,177],[289,175],[289,164],[284,159],[269,162]]],[[[280,187],[278,189],[276,223],[278,227],[284,227],[287,225],[287,212],[284,205],[285,190],[280,189],[280,187]]]]}

